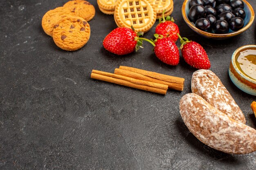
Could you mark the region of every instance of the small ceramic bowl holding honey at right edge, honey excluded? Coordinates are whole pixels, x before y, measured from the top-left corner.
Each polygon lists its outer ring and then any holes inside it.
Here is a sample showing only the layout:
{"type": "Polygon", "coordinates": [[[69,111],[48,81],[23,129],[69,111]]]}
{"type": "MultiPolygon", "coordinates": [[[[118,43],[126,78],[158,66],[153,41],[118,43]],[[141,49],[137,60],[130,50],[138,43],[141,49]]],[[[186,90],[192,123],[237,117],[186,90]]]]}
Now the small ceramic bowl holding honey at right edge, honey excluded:
{"type": "Polygon", "coordinates": [[[240,88],[240,90],[250,95],[256,96],[256,80],[245,75],[242,71],[240,71],[240,69],[238,69],[238,66],[236,65],[236,60],[240,55],[240,52],[243,52],[247,49],[253,49],[256,51],[256,45],[241,46],[233,53],[229,66],[229,77],[231,81],[238,88],[240,88]]]}

